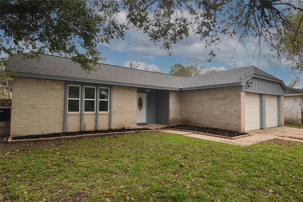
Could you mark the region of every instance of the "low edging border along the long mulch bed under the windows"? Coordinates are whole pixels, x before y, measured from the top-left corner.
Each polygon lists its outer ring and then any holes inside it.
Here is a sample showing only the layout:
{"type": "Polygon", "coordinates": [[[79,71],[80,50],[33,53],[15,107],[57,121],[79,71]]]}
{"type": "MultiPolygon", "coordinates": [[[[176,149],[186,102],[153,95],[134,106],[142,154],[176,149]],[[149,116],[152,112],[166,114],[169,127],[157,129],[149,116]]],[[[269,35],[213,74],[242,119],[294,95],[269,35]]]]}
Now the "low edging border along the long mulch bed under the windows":
{"type": "Polygon", "coordinates": [[[8,138],[8,143],[20,143],[20,142],[38,142],[38,141],[50,141],[50,140],[65,140],[65,139],[76,139],[81,137],[94,137],[94,136],[105,136],[105,135],[119,135],[119,134],[129,134],[129,133],[144,133],[144,132],[158,132],[158,130],[135,130],[135,131],[125,131],[125,132],[114,132],[114,133],[95,133],[95,134],[83,134],[83,135],[73,135],[73,136],[60,136],[60,137],[45,137],[45,138],[35,138],[35,139],[24,139],[24,140],[12,140],[12,137],[8,138]]]}

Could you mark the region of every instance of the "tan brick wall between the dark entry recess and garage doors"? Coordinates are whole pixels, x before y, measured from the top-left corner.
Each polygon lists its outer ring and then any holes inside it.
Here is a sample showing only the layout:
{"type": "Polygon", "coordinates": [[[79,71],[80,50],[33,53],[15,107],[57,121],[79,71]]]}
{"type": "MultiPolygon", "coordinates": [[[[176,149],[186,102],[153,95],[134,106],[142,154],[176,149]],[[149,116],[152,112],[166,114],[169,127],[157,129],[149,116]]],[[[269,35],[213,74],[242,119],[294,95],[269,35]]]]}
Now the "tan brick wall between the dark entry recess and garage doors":
{"type": "Polygon", "coordinates": [[[172,95],[170,103],[173,103],[169,110],[170,124],[176,124],[172,118],[178,116],[178,103],[180,103],[181,124],[236,131],[245,130],[245,94],[240,87],[201,89],[179,93],[180,96],[176,96],[174,92],[170,92],[172,95]]]}

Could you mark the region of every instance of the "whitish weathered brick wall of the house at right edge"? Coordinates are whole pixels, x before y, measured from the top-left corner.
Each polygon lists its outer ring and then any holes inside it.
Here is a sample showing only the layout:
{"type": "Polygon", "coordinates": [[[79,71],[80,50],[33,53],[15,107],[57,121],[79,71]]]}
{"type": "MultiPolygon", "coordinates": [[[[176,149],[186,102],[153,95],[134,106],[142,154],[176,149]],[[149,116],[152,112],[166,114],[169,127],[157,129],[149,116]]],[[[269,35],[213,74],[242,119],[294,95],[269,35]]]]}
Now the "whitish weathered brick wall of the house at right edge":
{"type": "Polygon", "coordinates": [[[284,120],[301,123],[303,96],[284,96],[284,120]]]}

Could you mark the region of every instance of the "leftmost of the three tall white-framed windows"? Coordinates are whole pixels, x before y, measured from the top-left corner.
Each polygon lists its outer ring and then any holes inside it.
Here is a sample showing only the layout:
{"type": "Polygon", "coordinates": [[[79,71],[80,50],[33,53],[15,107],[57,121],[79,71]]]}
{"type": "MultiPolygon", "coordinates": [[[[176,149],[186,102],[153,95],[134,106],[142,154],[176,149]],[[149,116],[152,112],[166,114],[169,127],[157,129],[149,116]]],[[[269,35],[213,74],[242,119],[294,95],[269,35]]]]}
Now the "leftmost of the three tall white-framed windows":
{"type": "Polygon", "coordinates": [[[80,112],[80,86],[68,85],[68,112],[80,112]]]}

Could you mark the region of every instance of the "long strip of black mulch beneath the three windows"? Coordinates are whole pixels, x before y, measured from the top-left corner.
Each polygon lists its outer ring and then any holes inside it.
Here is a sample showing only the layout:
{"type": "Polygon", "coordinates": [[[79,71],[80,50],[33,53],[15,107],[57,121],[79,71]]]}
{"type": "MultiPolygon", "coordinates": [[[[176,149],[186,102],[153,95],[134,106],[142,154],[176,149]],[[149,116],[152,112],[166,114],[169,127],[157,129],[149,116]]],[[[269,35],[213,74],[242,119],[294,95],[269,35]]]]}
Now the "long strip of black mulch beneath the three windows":
{"type": "Polygon", "coordinates": [[[89,130],[89,131],[78,131],[78,132],[66,132],[66,133],[52,133],[44,135],[27,135],[12,137],[12,140],[26,140],[26,139],[37,139],[37,138],[48,138],[48,137],[62,137],[62,136],[74,136],[74,135],[85,135],[85,134],[98,134],[98,133],[117,133],[117,132],[128,132],[138,130],[151,130],[149,128],[135,128],[135,129],[109,129],[109,130],[89,130]]]}

